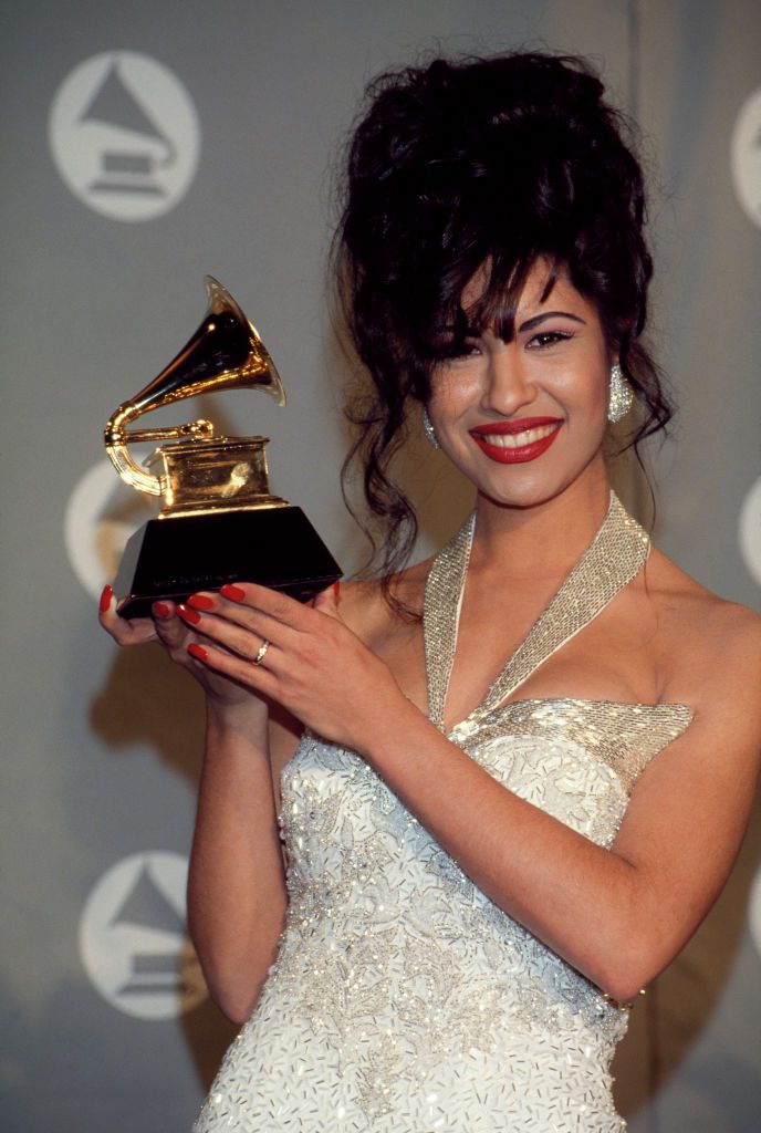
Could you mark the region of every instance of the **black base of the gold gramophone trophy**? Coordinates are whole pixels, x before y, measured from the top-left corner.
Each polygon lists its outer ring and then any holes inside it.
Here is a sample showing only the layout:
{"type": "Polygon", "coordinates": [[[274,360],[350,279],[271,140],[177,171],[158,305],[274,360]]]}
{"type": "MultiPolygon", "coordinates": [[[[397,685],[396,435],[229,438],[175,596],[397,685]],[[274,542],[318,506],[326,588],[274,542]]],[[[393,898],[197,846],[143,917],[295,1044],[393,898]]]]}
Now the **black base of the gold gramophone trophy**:
{"type": "Polygon", "coordinates": [[[258,582],[307,602],[341,568],[300,508],[152,519],[127,543],[114,590],[122,617],[225,582],[258,582]]]}

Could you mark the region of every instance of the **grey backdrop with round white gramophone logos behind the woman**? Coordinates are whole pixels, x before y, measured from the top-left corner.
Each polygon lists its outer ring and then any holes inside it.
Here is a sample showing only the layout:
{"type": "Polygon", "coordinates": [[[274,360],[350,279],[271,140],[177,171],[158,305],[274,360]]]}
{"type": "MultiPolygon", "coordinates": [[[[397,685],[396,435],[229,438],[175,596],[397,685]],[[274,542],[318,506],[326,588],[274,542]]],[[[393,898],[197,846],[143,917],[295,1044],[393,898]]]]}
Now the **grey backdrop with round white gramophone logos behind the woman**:
{"type": "MultiPolygon", "coordinates": [[[[336,155],[365,83],[421,52],[591,57],[645,133],[655,339],[681,404],[650,452],[656,537],[703,583],[761,582],[761,14],[753,0],[6,0],[0,1109],[8,1133],[187,1131],[234,1031],[185,930],[202,705],[96,597],[152,511],[105,458],[117,406],[205,308],[257,325],[288,407],[233,391],[152,415],[265,434],[274,492],[348,572],[350,380],[328,309],[336,155]]],[[[142,425],[148,424],[144,418],[142,425]]],[[[151,446],[145,449],[147,454],[151,446]]],[[[468,508],[409,460],[421,552],[468,508]]],[[[618,474],[632,500],[641,484],[618,474]]],[[[720,659],[717,658],[717,663],[720,659]]],[[[706,854],[710,854],[710,845],[706,854]]],[[[617,1058],[633,1133],[750,1133],[761,1111],[761,821],[617,1058]]]]}

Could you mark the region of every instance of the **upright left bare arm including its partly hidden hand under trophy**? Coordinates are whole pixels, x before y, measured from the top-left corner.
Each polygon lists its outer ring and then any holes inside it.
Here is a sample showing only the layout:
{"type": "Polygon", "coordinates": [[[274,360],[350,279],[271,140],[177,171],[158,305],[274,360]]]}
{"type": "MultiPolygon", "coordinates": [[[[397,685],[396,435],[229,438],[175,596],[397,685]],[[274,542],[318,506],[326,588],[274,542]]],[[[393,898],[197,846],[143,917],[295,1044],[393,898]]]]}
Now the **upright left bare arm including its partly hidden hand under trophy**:
{"type": "Polygon", "coordinates": [[[171,604],[127,622],[104,593],[101,622],[120,645],[159,639],[206,693],[188,922],[212,998],[242,1022],[274,961],[287,909],[275,782],[299,727],[280,706],[193,661],[187,646],[197,637],[171,604]]]}

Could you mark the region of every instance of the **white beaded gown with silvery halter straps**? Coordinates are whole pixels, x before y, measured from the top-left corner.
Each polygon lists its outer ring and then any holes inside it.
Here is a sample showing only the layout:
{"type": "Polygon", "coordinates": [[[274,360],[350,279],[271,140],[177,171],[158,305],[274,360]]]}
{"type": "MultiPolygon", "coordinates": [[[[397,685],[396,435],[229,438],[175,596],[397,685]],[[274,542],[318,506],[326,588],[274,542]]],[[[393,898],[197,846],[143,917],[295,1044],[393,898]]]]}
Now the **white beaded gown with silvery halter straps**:
{"type": "MultiPolygon", "coordinates": [[[[472,529],[437,556],[426,589],[439,727],[472,529]]],[[[648,550],[613,496],[593,543],[450,734],[511,791],[604,846],[691,709],[508,698],[634,578],[648,550]]],[[[277,961],[196,1133],[625,1128],[608,1067],[626,1007],[489,901],[357,755],[305,736],[283,773],[281,821],[290,904],[277,961]]]]}

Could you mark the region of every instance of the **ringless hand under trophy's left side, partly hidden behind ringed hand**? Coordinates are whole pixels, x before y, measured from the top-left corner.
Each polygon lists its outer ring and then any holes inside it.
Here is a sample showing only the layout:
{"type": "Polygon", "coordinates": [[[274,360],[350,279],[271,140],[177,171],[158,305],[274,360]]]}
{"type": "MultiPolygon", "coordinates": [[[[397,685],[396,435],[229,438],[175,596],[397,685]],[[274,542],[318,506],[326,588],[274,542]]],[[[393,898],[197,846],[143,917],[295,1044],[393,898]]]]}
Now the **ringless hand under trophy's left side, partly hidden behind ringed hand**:
{"type": "Polygon", "coordinates": [[[144,645],[147,641],[159,641],[163,645],[170,658],[186,668],[198,681],[210,700],[220,707],[258,700],[251,697],[250,689],[241,688],[234,681],[214,673],[188,653],[188,646],[197,641],[197,636],[188,624],[190,617],[183,620],[180,616],[183,608],[172,602],[154,602],[152,617],[120,617],[117,613],[113,589],[106,586],[101,595],[99,613],[101,625],[118,645],[144,645]]]}

